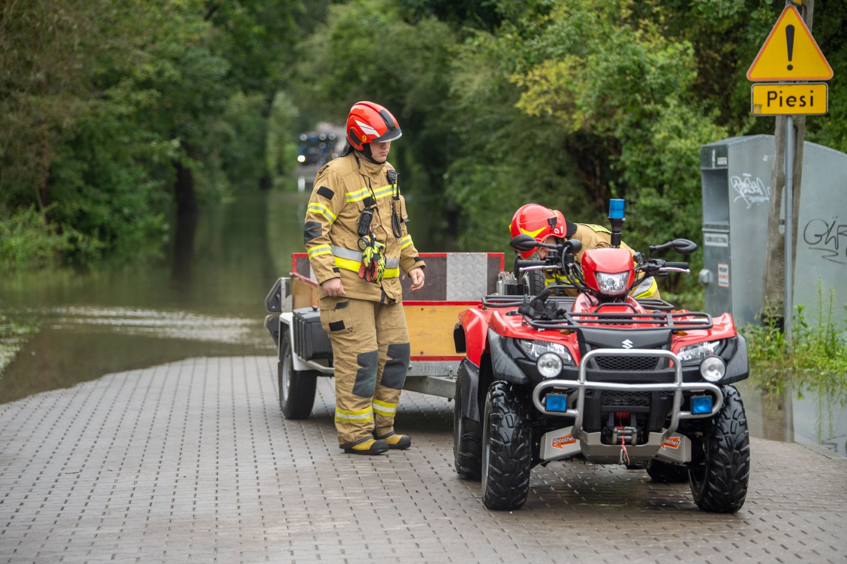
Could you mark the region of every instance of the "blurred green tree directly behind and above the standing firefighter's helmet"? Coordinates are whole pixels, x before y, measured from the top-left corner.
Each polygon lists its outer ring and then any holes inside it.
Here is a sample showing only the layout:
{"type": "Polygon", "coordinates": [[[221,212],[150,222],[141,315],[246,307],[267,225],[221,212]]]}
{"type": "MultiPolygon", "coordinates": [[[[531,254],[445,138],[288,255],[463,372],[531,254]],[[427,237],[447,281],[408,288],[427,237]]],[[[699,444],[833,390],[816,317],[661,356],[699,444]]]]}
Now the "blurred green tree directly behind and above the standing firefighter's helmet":
{"type": "Polygon", "coordinates": [[[300,69],[298,106],[316,121],[344,123],[358,100],[385,105],[403,130],[392,162],[404,177],[418,176],[418,185],[438,196],[450,143],[444,106],[454,45],[448,25],[433,18],[407,23],[389,0],[332,6],[326,24],[302,46],[307,58],[300,69]]]}

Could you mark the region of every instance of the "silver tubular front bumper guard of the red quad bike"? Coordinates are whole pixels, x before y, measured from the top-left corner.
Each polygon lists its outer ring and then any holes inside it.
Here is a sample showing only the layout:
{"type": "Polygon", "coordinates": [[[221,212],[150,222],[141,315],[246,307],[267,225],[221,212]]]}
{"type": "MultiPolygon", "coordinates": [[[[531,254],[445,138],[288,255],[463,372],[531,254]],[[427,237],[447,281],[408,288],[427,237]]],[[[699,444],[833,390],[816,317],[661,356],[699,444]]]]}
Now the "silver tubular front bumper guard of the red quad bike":
{"type": "Polygon", "coordinates": [[[673,407],[670,413],[670,424],[667,426],[666,434],[673,434],[679,425],[680,419],[697,419],[702,417],[712,417],[723,406],[723,393],[721,389],[708,382],[683,382],[682,362],[671,351],[657,351],[656,349],[595,349],[587,352],[582,357],[582,362],[579,362],[579,375],[576,380],[560,380],[550,379],[536,385],[532,392],[532,401],[535,408],[547,415],[557,415],[560,417],[574,417],[573,430],[571,434],[577,436],[579,430],[582,429],[584,406],[585,406],[585,390],[616,390],[616,391],[663,391],[673,392],[673,407]],[[669,358],[673,361],[674,381],[667,384],[622,384],[618,382],[589,382],[586,378],[586,368],[589,361],[594,357],[662,357],[669,358]],[[541,401],[541,395],[545,390],[551,388],[567,388],[577,390],[577,400],[573,408],[567,409],[564,412],[547,411],[545,404],[541,401]],[[710,413],[692,413],[682,411],[683,392],[708,392],[714,396],[715,401],[711,406],[710,413]]]}

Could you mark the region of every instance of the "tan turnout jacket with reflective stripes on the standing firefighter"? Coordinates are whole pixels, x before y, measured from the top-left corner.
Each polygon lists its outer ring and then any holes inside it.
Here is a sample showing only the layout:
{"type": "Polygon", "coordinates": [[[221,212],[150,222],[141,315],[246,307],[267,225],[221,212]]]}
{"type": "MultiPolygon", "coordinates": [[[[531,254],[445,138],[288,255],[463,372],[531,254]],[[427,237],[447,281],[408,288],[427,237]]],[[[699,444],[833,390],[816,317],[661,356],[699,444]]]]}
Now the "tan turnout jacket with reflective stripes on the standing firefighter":
{"type": "MultiPolygon", "coordinates": [[[[400,269],[408,275],[413,268],[425,266],[406,229],[408,216],[403,196],[393,202],[394,191],[387,177],[391,169],[387,162],[371,163],[351,151],[318,170],[303,225],[303,241],[318,284],[340,278],[348,297],[401,301],[400,269]],[[385,277],[379,284],[358,276],[362,251],[357,229],[368,196],[376,200],[372,232],[385,245],[385,277]],[[399,239],[391,231],[392,203],[401,218],[399,239]]],[[[324,297],[323,290],[319,297],[324,297]]]]}

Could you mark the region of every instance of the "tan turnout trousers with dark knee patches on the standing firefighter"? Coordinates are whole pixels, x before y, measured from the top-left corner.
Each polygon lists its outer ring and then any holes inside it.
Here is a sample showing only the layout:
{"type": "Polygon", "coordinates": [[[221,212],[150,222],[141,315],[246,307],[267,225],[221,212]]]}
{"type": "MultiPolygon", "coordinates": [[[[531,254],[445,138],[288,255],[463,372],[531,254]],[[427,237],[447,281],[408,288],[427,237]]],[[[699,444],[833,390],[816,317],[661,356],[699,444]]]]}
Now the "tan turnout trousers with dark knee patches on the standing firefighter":
{"type": "Polygon", "coordinates": [[[409,368],[409,335],[399,302],[324,296],[320,320],[335,359],[335,428],[341,448],[394,431],[409,368]]]}

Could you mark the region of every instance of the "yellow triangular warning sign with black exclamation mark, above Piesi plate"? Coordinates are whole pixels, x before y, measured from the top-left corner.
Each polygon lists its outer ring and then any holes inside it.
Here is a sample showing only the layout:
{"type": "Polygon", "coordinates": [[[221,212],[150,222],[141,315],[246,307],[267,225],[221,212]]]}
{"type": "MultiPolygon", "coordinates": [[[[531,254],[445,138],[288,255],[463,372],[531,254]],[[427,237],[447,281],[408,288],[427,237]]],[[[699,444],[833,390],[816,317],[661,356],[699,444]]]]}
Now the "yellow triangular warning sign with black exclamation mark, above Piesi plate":
{"type": "Polygon", "coordinates": [[[786,6],[747,71],[747,80],[829,80],[833,68],[794,6],[786,6]]]}

